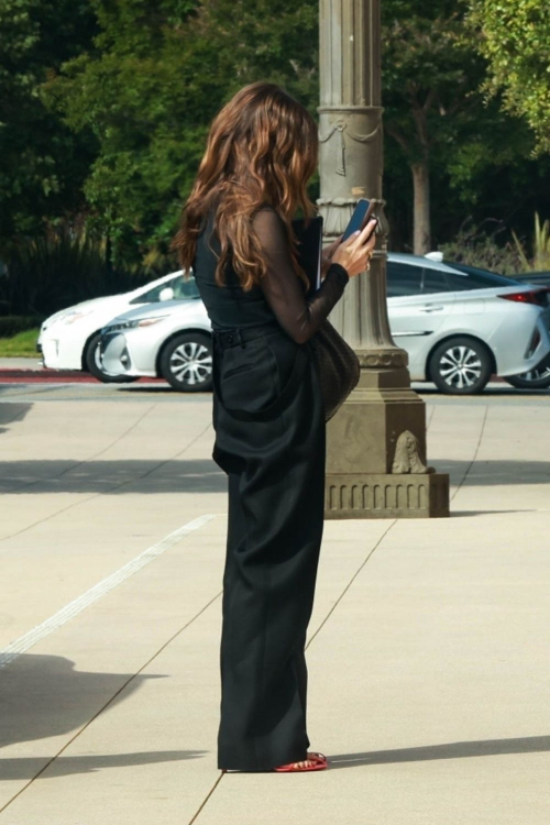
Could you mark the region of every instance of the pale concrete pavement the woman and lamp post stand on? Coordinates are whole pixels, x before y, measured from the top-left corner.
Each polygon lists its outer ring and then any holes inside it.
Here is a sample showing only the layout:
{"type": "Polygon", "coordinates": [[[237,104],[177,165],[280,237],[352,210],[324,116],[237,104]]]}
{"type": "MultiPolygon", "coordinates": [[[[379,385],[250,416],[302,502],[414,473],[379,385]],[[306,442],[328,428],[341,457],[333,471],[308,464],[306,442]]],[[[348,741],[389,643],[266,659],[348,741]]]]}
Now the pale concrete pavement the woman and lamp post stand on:
{"type": "Polygon", "coordinates": [[[223,777],[209,399],[0,411],[0,825],[548,825],[544,406],[429,405],[450,519],[326,522],[308,702],[331,769],[223,777]]]}

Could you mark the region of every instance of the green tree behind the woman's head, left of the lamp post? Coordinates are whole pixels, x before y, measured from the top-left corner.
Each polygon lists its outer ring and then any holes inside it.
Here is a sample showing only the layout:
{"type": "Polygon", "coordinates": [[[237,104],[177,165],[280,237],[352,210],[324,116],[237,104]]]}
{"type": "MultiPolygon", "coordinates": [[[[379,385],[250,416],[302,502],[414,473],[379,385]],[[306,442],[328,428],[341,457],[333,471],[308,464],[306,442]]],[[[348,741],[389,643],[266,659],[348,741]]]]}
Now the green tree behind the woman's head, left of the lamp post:
{"type": "Polygon", "coordinates": [[[94,48],[67,62],[46,94],[72,129],[98,142],[85,193],[116,260],[151,257],[166,252],[208,124],[231,94],[270,78],[317,103],[317,0],[94,8],[94,48]]]}

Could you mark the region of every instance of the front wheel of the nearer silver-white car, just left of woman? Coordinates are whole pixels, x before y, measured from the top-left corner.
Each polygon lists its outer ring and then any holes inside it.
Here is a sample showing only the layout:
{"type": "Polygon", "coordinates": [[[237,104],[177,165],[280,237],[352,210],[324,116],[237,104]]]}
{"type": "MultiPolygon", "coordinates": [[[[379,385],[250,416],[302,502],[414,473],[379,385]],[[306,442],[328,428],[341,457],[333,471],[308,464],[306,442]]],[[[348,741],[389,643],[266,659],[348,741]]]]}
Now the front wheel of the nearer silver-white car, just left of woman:
{"type": "Polygon", "coordinates": [[[204,332],[182,332],[161,354],[161,374],[180,393],[212,388],[212,339],[204,332]]]}

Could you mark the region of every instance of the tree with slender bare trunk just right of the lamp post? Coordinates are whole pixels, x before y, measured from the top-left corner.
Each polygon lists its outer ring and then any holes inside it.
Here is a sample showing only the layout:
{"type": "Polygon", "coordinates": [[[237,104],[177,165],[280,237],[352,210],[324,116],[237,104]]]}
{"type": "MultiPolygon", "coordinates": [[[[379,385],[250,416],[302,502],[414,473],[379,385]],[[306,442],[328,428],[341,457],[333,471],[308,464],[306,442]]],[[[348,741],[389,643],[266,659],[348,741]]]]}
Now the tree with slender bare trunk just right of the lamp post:
{"type": "Polygon", "coordinates": [[[431,248],[431,186],[476,197],[479,177],[514,163],[532,145],[526,129],[479,92],[484,61],[464,36],[463,2],[386,0],[383,13],[385,130],[413,179],[414,251],[431,248]],[[507,140],[502,140],[503,131],[507,140]]]}

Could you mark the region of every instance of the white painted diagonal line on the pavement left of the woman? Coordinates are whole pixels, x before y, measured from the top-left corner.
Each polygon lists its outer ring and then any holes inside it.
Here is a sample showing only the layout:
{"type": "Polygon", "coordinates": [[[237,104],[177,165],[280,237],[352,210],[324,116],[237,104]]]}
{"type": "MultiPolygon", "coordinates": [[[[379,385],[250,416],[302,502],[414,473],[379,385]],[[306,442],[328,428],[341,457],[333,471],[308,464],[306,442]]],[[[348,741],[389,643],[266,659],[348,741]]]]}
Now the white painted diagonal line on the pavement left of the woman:
{"type": "Polygon", "coordinates": [[[140,553],[140,556],[136,556],[135,559],[132,559],[127,564],[123,564],[121,568],[119,568],[119,570],[116,570],[114,573],[111,573],[111,575],[108,575],[107,579],[102,579],[100,582],[95,584],[94,587],[87,590],[86,593],[81,594],[81,596],[78,596],[78,598],[69,602],[67,605],[65,605],[65,607],[62,607],[61,610],[54,613],[54,615],[48,619],[42,622],[42,624],[40,625],[36,625],[36,627],[33,627],[32,630],[29,630],[29,632],[20,636],[19,639],[10,642],[6,648],[3,648],[3,650],[0,650],[0,670],[2,668],[6,668],[7,664],[10,664],[10,662],[16,659],[18,656],[24,653],[25,650],[34,647],[34,645],[44,639],[51,632],[57,630],[57,628],[62,627],[72,618],[77,616],[86,607],[89,607],[90,604],[97,602],[98,598],[105,596],[106,593],[109,593],[110,590],[116,587],[125,579],[129,579],[131,575],[136,573],[139,570],[145,566],[145,564],[148,564],[150,561],[153,561],[153,559],[156,559],[158,556],[164,553],[164,551],[168,550],[168,548],[170,548],[173,544],[176,544],[179,539],[183,539],[185,536],[194,532],[194,530],[198,530],[199,527],[202,527],[202,525],[211,521],[212,518],[216,518],[216,516],[217,514],[199,516],[193,521],[183,525],[183,527],[178,527],[177,530],[174,530],[174,532],[165,536],[164,539],[157,541],[156,544],[148,547],[146,550],[140,553]]]}

